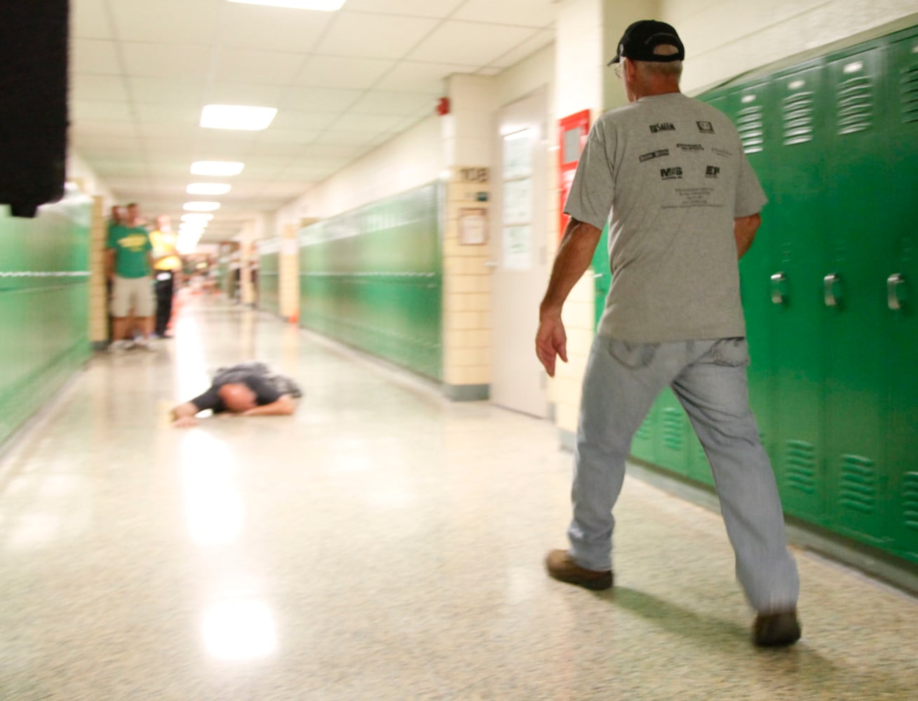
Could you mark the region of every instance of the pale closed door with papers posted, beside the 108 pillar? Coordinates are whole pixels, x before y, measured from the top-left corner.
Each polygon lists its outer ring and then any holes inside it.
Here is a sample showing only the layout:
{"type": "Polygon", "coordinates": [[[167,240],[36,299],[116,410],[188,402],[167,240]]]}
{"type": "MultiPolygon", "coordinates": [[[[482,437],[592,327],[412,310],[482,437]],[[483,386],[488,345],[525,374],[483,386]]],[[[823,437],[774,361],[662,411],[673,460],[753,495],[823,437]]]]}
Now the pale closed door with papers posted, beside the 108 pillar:
{"type": "Polygon", "coordinates": [[[535,357],[539,302],[549,273],[547,109],[542,88],[500,110],[491,178],[491,401],[536,417],[548,416],[547,379],[535,357]]]}

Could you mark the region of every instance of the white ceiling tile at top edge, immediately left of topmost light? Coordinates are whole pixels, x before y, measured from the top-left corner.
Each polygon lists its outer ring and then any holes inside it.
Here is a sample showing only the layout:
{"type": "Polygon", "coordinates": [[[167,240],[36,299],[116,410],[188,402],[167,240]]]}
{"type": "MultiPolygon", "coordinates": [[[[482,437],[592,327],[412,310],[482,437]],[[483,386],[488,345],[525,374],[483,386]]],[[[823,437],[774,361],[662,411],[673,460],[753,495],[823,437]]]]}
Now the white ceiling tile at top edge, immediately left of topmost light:
{"type": "Polygon", "coordinates": [[[220,0],[113,0],[108,3],[115,34],[122,41],[168,38],[176,44],[211,43],[220,0]]]}

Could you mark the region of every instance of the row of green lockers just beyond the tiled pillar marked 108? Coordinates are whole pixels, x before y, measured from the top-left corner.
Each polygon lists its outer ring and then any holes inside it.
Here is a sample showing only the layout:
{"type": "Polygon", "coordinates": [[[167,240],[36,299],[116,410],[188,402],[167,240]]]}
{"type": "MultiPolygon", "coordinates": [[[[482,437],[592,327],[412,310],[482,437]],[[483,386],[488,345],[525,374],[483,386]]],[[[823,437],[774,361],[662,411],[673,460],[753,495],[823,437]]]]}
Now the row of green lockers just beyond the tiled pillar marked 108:
{"type": "Polygon", "coordinates": [[[300,325],[442,379],[442,188],[299,232],[300,325]]]}

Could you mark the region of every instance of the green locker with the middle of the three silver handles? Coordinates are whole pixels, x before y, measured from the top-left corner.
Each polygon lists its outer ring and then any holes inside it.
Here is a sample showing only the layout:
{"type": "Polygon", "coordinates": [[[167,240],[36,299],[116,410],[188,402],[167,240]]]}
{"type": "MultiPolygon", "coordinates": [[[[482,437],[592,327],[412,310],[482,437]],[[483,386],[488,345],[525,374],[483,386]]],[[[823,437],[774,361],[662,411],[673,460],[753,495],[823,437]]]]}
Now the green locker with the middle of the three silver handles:
{"type": "Polygon", "coordinates": [[[823,270],[824,455],[828,524],[874,545],[890,542],[881,452],[886,424],[883,270],[890,255],[886,66],[872,46],[830,57],[831,140],[823,176],[830,206],[823,270]],[[869,169],[869,175],[868,175],[869,169]],[[868,176],[867,176],[868,175],[868,176]]]}

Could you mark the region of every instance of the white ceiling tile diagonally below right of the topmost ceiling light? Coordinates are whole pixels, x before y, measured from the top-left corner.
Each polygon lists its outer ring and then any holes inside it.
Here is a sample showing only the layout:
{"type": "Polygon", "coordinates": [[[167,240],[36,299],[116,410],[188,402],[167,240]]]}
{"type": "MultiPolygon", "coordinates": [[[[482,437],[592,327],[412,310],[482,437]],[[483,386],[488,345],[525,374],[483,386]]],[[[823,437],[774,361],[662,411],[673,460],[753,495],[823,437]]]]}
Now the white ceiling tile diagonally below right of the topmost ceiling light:
{"type": "Polygon", "coordinates": [[[341,13],[322,37],[315,53],[398,59],[438,24],[436,19],[341,13]]]}

